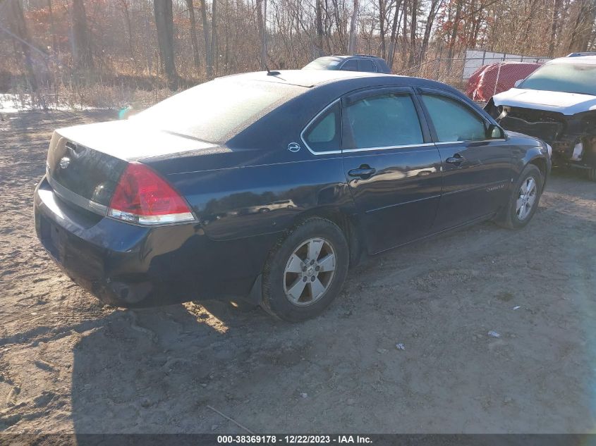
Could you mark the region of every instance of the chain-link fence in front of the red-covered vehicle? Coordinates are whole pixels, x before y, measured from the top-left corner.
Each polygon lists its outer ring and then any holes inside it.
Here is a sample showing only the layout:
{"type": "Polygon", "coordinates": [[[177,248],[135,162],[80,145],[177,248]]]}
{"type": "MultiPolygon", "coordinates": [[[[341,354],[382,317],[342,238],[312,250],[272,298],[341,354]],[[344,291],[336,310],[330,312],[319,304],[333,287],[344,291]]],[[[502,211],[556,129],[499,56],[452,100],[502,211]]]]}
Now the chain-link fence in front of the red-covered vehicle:
{"type": "Polygon", "coordinates": [[[494,94],[515,87],[549,58],[474,57],[436,58],[396,74],[438,80],[470,99],[486,103],[494,94]]]}

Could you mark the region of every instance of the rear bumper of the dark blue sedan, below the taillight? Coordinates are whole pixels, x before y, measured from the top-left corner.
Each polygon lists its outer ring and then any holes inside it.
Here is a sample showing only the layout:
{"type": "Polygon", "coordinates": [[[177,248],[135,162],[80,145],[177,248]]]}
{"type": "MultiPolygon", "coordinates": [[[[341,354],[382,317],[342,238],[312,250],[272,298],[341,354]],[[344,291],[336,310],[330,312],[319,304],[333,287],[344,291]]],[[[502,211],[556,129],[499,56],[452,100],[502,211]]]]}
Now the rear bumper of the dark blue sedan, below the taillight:
{"type": "Polygon", "coordinates": [[[145,228],[66,204],[44,178],[35,230],[61,269],[102,302],[154,306],[250,293],[274,237],[215,242],[197,223],[145,228]]]}

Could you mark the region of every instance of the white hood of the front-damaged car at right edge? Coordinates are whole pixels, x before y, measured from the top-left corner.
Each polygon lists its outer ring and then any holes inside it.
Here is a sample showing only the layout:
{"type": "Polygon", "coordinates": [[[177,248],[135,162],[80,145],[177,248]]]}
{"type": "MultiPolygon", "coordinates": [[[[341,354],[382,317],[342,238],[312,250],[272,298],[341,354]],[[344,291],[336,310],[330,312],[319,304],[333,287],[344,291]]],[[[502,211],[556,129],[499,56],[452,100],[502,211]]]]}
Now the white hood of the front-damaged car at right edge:
{"type": "Polygon", "coordinates": [[[596,110],[596,96],[590,94],[545,92],[535,89],[512,88],[492,97],[495,106],[524,107],[557,111],[564,115],[575,115],[583,111],[596,110]]]}

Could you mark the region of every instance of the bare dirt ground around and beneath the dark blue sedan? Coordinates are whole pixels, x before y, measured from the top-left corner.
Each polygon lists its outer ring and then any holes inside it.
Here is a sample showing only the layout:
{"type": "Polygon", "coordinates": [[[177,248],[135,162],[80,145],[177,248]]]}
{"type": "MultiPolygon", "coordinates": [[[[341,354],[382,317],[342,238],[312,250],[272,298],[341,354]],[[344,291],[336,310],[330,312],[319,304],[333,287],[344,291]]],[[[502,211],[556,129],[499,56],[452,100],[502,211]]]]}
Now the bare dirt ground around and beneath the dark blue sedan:
{"type": "Polygon", "coordinates": [[[208,406],[261,433],[595,428],[594,183],[556,173],[525,230],[367,259],[299,325],[222,302],[128,311],[73,285],[32,224],[51,130],[112,117],[0,122],[0,430],[243,433],[208,406]]]}

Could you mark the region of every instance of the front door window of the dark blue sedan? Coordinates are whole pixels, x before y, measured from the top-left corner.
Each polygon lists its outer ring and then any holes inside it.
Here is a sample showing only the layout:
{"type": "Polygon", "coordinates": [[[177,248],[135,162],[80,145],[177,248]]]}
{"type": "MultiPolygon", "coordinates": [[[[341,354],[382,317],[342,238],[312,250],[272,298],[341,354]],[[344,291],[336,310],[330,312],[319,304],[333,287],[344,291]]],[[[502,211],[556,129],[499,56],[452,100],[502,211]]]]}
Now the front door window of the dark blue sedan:
{"type": "Polygon", "coordinates": [[[439,142],[487,139],[484,121],[464,104],[437,94],[422,94],[422,101],[437,131],[439,142]]]}

